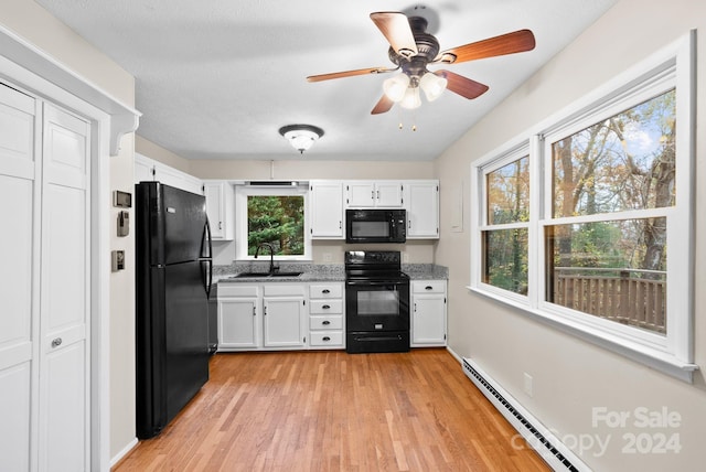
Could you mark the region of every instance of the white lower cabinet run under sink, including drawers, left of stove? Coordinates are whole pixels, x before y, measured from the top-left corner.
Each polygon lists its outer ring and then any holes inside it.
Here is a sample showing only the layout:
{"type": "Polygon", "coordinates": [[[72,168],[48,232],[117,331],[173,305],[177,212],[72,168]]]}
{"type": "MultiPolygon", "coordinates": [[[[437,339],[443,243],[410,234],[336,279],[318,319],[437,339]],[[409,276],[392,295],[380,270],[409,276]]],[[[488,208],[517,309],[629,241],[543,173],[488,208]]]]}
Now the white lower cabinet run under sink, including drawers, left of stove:
{"type": "Polygon", "coordinates": [[[218,286],[220,352],[344,348],[344,321],[343,282],[218,286]]]}

